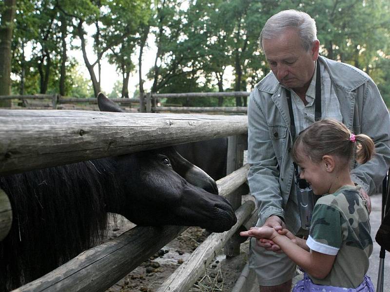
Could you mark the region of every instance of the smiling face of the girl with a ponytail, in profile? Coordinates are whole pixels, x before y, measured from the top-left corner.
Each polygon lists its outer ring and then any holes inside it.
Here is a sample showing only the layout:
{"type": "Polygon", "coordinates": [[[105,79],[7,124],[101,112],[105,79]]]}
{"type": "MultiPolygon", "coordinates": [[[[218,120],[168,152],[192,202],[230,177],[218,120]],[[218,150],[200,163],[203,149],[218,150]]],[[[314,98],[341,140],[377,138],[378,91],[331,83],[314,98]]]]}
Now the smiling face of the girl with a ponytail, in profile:
{"type": "Polygon", "coordinates": [[[311,185],[315,195],[322,196],[329,193],[332,180],[329,172],[326,171],[325,162],[313,162],[309,156],[303,154],[296,163],[301,169],[300,178],[311,185]]]}

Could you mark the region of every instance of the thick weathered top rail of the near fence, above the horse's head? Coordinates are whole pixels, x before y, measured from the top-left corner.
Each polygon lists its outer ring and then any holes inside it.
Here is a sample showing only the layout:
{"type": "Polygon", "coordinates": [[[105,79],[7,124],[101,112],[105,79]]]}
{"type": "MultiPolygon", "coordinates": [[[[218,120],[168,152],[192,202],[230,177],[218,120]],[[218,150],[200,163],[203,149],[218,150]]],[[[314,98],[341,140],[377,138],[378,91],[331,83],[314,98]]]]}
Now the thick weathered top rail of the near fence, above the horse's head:
{"type": "Polygon", "coordinates": [[[247,116],[0,110],[0,175],[246,133],[247,116]]]}

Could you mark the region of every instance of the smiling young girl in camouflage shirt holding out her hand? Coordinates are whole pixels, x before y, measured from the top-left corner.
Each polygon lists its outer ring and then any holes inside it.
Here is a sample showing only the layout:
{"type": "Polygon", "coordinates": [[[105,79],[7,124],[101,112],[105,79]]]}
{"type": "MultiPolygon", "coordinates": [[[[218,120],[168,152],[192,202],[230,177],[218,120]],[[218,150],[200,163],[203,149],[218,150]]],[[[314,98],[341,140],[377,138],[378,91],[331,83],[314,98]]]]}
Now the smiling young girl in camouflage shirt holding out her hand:
{"type": "Polygon", "coordinates": [[[353,158],[364,164],[373,153],[367,135],[353,135],[331,119],[315,122],[298,135],[292,150],[300,178],[321,196],[314,206],[309,238],[266,226],[240,233],[277,244],[305,271],[293,291],[374,292],[366,275],[372,252],[369,214],[350,175],[353,158]]]}

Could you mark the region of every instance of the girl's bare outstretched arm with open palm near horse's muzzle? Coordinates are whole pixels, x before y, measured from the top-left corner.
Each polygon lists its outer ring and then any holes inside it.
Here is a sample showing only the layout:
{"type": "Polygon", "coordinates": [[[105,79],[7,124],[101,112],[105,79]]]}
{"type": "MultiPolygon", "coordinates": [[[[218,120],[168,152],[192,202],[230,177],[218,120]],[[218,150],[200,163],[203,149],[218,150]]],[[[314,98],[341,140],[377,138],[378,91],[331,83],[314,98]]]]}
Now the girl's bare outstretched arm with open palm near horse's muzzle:
{"type": "Polygon", "coordinates": [[[314,251],[309,252],[306,250],[308,248],[306,246],[306,240],[295,237],[297,240],[294,243],[287,235],[279,234],[271,227],[263,226],[253,228],[246,232],[241,232],[240,235],[272,240],[274,244],[280,246],[283,252],[299,267],[304,269],[305,272],[319,279],[325,278],[331,272],[336,257],[314,251]]]}

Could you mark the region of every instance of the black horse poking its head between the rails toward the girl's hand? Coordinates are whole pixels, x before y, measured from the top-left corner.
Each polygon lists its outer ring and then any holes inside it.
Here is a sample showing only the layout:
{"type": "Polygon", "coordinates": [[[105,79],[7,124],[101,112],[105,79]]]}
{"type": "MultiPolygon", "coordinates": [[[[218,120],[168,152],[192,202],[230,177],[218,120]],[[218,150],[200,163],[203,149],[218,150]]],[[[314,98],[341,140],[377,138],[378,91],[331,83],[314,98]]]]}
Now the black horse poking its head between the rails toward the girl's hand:
{"type": "Polygon", "coordinates": [[[99,244],[107,212],[138,225],[201,226],[236,222],[215,182],[173,147],[0,177],[13,210],[0,242],[0,291],[46,274],[99,244]]]}

